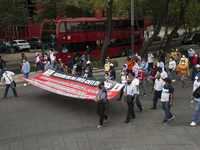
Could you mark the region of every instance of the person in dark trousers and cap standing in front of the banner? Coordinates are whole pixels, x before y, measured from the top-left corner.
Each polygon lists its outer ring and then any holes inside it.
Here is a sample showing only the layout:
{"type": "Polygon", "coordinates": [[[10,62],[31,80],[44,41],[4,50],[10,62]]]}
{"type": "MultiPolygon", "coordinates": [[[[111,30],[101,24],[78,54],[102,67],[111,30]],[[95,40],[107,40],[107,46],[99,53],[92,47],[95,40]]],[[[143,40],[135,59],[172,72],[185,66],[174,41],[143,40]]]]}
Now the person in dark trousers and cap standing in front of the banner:
{"type": "Polygon", "coordinates": [[[105,103],[107,101],[107,91],[104,87],[104,82],[100,82],[98,94],[94,101],[97,102],[97,114],[100,116],[99,125],[97,126],[99,129],[103,126],[103,123],[106,123],[109,119],[109,117],[104,114],[105,103]]]}

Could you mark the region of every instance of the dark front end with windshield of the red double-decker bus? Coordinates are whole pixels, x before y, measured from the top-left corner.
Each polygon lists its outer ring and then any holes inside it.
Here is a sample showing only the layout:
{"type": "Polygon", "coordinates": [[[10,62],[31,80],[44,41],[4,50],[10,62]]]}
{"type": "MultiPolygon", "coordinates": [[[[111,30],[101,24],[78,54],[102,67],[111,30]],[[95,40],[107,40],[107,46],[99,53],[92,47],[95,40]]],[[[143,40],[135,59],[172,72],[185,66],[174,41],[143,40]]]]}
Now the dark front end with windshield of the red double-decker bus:
{"type": "Polygon", "coordinates": [[[57,22],[46,22],[42,32],[42,53],[51,49],[58,53],[58,39],[56,37],[57,22]]]}

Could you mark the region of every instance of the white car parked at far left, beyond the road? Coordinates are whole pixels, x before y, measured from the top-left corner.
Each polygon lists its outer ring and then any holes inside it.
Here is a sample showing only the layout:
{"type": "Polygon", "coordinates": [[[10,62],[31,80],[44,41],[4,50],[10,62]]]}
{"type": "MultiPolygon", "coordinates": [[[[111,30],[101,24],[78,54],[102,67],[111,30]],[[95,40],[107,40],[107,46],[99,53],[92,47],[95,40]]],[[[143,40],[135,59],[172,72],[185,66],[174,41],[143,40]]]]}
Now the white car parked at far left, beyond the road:
{"type": "MultiPolygon", "coordinates": [[[[7,47],[11,47],[11,43],[7,44],[7,47]]],[[[25,40],[13,40],[13,48],[15,49],[15,52],[20,52],[21,50],[28,50],[30,52],[30,44],[26,42],[25,40]]]]}

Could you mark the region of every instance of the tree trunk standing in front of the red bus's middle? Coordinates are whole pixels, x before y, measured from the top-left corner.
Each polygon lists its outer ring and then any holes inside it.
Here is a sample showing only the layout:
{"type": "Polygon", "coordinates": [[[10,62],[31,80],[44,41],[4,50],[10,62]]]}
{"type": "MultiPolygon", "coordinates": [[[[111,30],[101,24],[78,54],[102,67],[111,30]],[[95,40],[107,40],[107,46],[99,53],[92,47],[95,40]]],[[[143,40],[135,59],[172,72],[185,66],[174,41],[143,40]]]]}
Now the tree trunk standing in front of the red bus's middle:
{"type": "Polygon", "coordinates": [[[105,37],[104,37],[102,51],[101,51],[101,57],[100,57],[100,62],[101,62],[102,66],[104,66],[104,64],[105,64],[107,48],[108,48],[108,44],[110,42],[110,36],[112,34],[112,6],[113,6],[113,0],[110,0],[110,2],[108,2],[108,6],[109,7],[107,9],[106,34],[105,34],[105,37]]]}

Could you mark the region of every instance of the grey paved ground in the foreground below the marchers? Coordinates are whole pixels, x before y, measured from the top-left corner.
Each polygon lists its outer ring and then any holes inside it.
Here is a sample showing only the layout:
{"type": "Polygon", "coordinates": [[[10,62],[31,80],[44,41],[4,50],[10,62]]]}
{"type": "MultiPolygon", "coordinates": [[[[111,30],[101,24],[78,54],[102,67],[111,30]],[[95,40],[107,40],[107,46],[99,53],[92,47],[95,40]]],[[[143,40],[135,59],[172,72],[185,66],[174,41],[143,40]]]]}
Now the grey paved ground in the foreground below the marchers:
{"type": "MultiPolygon", "coordinates": [[[[100,76],[101,74],[98,74],[100,76]]],[[[110,116],[103,128],[97,129],[99,117],[93,101],[56,95],[32,85],[19,85],[19,97],[0,100],[0,150],[199,150],[200,126],[190,127],[195,107],[190,106],[191,85],[175,87],[174,120],[162,125],[161,103],[152,107],[153,95],[140,89],[145,111],[136,108],[136,118],[124,124],[127,106],[111,100],[110,116]]],[[[0,87],[0,96],[4,88],[0,87]]]]}

